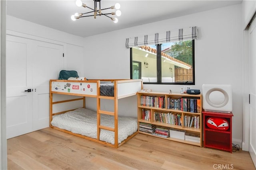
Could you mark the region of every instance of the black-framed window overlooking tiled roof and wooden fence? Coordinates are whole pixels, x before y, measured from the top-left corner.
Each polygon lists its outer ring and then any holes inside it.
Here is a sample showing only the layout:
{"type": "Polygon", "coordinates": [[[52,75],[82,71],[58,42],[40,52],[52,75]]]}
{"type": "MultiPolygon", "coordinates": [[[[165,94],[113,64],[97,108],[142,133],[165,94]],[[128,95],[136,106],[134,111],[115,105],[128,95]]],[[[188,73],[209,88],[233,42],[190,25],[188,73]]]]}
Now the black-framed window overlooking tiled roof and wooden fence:
{"type": "Polygon", "coordinates": [[[194,39],[130,48],[132,79],[144,84],[195,84],[194,39]]]}

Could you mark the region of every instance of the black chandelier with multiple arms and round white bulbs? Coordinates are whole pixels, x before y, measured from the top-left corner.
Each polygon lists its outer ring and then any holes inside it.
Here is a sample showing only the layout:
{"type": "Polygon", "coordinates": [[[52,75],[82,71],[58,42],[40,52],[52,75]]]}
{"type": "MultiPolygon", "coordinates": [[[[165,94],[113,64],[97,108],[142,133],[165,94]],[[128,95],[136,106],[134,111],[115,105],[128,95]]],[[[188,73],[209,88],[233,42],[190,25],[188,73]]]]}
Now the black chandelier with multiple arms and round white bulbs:
{"type": "Polygon", "coordinates": [[[118,10],[120,8],[120,4],[116,3],[114,6],[111,6],[110,8],[104,8],[101,9],[100,7],[100,1],[101,0],[93,0],[94,1],[94,9],[90,8],[89,6],[87,6],[86,4],[84,4],[82,2],[82,0],[76,0],[76,6],[81,7],[83,6],[84,8],[89,8],[90,12],[86,12],[86,13],[75,13],[74,15],[71,16],[71,19],[73,21],[75,21],[76,19],[82,18],[82,17],[90,17],[90,16],[94,16],[94,18],[96,18],[96,16],[106,16],[108,18],[110,18],[112,21],[114,21],[114,23],[118,22],[117,18],[113,18],[110,17],[111,15],[116,15],[116,16],[121,16],[121,11],[118,10]],[[98,6],[98,7],[97,7],[98,6]],[[108,9],[117,9],[115,12],[111,12],[111,13],[102,13],[102,10],[108,10],[108,9]],[[94,13],[93,15],[89,15],[90,13],[94,13]]]}

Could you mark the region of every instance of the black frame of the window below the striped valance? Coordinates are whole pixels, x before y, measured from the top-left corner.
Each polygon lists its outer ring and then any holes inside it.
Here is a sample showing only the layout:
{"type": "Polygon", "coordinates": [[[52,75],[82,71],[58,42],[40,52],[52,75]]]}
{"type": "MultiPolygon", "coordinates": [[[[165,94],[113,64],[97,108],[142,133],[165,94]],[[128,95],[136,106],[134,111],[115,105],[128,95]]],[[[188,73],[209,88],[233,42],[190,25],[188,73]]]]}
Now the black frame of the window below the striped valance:
{"type": "MultiPolygon", "coordinates": [[[[161,44],[156,45],[156,82],[143,82],[143,84],[174,84],[174,85],[195,85],[195,40],[192,39],[192,69],[193,82],[162,82],[161,44]]],[[[130,47],[130,79],[132,78],[132,47],[130,47]]]]}

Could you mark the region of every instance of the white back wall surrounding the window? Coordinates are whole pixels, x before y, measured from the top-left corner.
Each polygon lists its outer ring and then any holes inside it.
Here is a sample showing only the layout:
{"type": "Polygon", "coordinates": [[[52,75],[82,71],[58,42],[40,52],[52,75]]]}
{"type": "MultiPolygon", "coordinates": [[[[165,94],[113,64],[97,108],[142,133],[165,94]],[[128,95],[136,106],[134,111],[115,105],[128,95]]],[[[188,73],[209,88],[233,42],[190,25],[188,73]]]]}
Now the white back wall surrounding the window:
{"type": "MultiPolygon", "coordinates": [[[[84,38],[84,76],[88,78],[130,78],[129,37],[198,26],[195,41],[195,85],[231,84],[233,88],[233,142],[242,142],[242,13],[241,4],[218,8],[170,20],[158,21],[84,38]]],[[[179,92],[183,86],[145,85],[153,91],[179,92]]],[[[136,98],[118,109],[123,115],[137,115],[136,98]],[[130,109],[124,109],[131,106],[130,109]]],[[[241,146],[241,145],[240,145],[241,146]]]]}

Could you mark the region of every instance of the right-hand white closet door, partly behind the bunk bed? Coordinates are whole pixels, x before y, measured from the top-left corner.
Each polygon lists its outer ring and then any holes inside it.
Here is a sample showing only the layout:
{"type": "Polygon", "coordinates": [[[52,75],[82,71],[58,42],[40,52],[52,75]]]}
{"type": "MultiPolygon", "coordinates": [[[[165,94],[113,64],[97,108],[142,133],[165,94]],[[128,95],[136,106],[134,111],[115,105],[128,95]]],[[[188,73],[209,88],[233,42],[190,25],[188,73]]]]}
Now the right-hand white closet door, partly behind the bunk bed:
{"type": "Polygon", "coordinates": [[[33,53],[33,130],[49,127],[49,80],[64,68],[63,46],[38,42],[33,53]]]}

